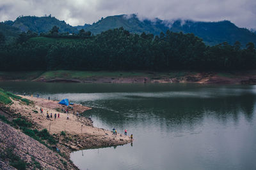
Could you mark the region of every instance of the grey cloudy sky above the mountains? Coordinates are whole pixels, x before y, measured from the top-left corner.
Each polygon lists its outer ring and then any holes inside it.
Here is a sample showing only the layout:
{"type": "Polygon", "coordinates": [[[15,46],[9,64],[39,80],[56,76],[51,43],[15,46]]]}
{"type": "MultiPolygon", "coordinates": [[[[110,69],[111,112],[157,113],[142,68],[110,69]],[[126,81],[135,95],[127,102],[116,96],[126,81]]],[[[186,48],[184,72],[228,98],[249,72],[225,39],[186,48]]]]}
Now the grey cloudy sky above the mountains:
{"type": "Polygon", "coordinates": [[[70,25],[84,25],[131,13],[162,20],[230,20],[239,27],[256,28],[255,0],[0,0],[1,21],[51,14],[70,25]]]}

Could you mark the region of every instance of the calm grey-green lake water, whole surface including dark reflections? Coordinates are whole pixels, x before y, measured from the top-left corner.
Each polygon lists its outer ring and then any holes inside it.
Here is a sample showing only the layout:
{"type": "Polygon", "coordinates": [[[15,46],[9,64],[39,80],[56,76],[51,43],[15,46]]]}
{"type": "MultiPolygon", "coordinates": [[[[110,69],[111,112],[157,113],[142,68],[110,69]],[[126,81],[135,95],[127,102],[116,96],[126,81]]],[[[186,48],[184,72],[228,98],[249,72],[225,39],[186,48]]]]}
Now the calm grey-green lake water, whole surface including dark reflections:
{"type": "Polygon", "coordinates": [[[124,146],[71,153],[80,169],[256,169],[256,86],[0,82],[68,98],[94,125],[133,134],[124,146]]]}

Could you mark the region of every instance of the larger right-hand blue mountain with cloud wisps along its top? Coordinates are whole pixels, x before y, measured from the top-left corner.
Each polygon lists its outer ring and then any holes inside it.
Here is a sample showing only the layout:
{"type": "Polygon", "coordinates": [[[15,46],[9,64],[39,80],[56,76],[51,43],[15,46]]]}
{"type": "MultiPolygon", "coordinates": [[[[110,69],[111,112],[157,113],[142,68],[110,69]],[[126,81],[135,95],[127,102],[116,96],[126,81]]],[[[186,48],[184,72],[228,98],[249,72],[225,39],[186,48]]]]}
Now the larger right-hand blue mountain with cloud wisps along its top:
{"type": "Polygon", "coordinates": [[[248,42],[256,44],[256,34],[248,29],[239,28],[230,21],[220,22],[195,22],[192,20],[140,20],[137,15],[115,15],[102,18],[92,25],[86,24],[86,27],[79,27],[85,31],[91,31],[93,34],[99,34],[108,29],[124,27],[127,31],[141,34],[142,32],[159,35],[160,32],[166,32],[168,29],[173,32],[193,33],[204,39],[207,45],[216,45],[227,41],[233,45],[236,41],[245,46],[248,42]]]}

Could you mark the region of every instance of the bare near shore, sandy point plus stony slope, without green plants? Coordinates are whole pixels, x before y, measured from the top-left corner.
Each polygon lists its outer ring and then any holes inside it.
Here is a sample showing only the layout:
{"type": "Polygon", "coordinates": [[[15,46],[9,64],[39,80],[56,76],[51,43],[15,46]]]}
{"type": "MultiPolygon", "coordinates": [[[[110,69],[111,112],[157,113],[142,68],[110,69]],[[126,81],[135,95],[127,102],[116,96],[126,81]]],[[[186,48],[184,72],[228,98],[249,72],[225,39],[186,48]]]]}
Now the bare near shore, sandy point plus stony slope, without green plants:
{"type": "MultiPolygon", "coordinates": [[[[72,151],[124,145],[131,142],[131,139],[128,136],[122,134],[113,135],[111,131],[93,127],[90,118],[79,117],[76,115],[76,112],[83,113],[91,108],[80,104],[74,104],[72,106],[74,110],[70,110],[69,108],[69,114],[67,114],[61,112],[61,110],[66,110],[67,106],[58,104],[58,101],[30,96],[20,97],[28,99],[31,101],[31,104],[12,99],[12,104],[1,107],[0,115],[3,115],[10,121],[22,117],[26,122],[32,124],[31,129],[36,129],[37,131],[47,129],[49,134],[51,134],[57,141],[56,145],[51,145],[49,143],[48,145],[54,148],[54,150],[58,148],[63,156],[60,158],[56,152],[52,152],[52,150],[49,150],[49,148],[42,145],[42,143],[0,121],[0,143],[2,142],[2,150],[9,147],[6,143],[10,143],[10,145],[19,148],[14,149],[13,152],[17,153],[17,155],[19,155],[22,160],[26,160],[26,162],[31,162],[31,157],[40,157],[42,160],[36,161],[41,161],[40,165],[44,167],[44,169],[54,169],[54,166],[58,167],[58,165],[63,165],[63,162],[66,162],[66,167],[62,166],[60,167],[61,169],[77,169],[77,167],[70,162],[69,155],[72,151]],[[44,109],[44,113],[40,113],[40,108],[44,109]],[[46,118],[47,111],[49,115],[52,113],[52,118],[46,118]],[[57,115],[60,114],[60,118],[54,118],[55,113],[57,115]],[[18,150],[22,151],[20,152],[18,150]],[[54,162],[54,160],[60,159],[63,161],[54,162]],[[51,166],[51,164],[54,166],[51,166]]],[[[2,164],[2,167],[5,167],[4,164],[2,164]]]]}

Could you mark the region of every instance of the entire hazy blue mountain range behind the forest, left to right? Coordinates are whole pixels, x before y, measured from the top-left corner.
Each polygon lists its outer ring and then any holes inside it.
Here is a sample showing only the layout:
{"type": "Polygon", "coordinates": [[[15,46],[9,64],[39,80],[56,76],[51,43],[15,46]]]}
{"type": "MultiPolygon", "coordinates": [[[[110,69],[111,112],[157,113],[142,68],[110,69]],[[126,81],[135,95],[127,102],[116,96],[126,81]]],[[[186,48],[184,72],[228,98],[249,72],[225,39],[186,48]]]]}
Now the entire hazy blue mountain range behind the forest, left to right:
{"type": "Polygon", "coordinates": [[[48,17],[18,17],[15,21],[6,21],[2,22],[2,24],[18,28],[20,31],[31,30],[38,33],[49,32],[54,25],[60,28],[60,32],[76,33],[80,29],[84,29],[84,31],[91,31],[93,34],[99,34],[108,29],[124,27],[125,30],[132,33],[141,34],[145,32],[159,36],[161,32],[166,32],[169,29],[173,32],[193,33],[202,38],[207,45],[217,45],[225,41],[230,45],[234,45],[236,41],[240,41],[243,46],[248,42],[256,44],[255,32],[239,28],[227,20],[220,22],[161,20],[159,18],[140,20],[137,15],[132,14],[109,16],[93,24],[72,27],[65,21],[60,21],[50,15],[48,17]]]}

